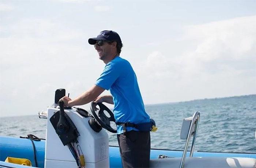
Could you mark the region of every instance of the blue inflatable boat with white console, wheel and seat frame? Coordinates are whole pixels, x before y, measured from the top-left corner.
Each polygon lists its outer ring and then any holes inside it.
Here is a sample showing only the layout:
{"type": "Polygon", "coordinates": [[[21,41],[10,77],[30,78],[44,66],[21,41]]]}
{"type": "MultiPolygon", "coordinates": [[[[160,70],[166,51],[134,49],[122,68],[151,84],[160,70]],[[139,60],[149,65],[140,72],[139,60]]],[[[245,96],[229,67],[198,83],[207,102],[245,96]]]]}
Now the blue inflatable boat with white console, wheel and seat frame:
{"type": "MultiPolygon", "coordinates": [[[[0,136],[0,168],[122,167],[119,147],[109,146],[106,132],[116,132],[110,124],[113,113],[102,103],[91,103],[93,115],[82,108],[64,107],[59,101],[64,95],[65,89],[57,89],[54,104],[38,114],[47,120],[45,140],[33,135],[0,136]]],[[[198,111],[182,121],[183,151],[151,149],[150,167],[256,168],[256,153],[194,151],[199,121],[198,111]]]]}

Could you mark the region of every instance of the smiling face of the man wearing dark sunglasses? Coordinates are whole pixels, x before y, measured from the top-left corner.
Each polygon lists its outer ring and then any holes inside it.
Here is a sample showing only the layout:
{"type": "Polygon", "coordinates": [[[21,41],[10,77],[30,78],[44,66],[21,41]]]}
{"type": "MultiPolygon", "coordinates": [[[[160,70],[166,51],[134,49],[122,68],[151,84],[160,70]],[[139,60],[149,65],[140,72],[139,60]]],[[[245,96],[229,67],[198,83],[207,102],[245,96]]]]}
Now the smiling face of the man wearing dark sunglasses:
{"type": "Polygon", "coordinates": [[[97,43],[94,44],[94,47],[99,54],[99,59],[101,60],[108,59],[111,55],[111,44],[107,41],[97,41],[97,43]]]}

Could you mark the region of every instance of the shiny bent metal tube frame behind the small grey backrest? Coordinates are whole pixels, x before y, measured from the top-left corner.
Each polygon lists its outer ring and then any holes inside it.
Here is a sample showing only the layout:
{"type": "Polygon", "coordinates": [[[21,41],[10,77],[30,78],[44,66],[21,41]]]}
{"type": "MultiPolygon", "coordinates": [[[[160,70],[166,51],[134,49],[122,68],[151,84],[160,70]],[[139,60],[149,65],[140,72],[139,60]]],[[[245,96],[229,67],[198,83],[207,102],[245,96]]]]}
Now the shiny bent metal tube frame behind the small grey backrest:
{"type": "Polygon", "coordinates": [[[181,162],[180,162],[180,168],[183,168],[183,166],[184,166],[185,157],[187,155],[187,150],[188,150],[188,144],[189,144],[189,141],[190,141],[190,138],[191,138],[192,135],[193,135],[193,141],[192,141],[192,144],[191,144],[191,150],[190,150],[189,157],[193,156],[193,152],[194,152],[194,148],[195,148],[195,143],[196,143],[196,134],[197,134],[199,120],[200,120],[200,113],[197,111],[197,112],[194,113],[193,119],[192,119],[192,121],[190,123],[190,126],[189,126],[187,141],[186,141],[185,148],[184,148],[184,151],[183,151],[183,154],[182,154],[182,158],[181,158],[181,162]],[[195,127],[195,131],[194,132],[192,132],[193,131],[192,130],[193,127],[195,127]]]}

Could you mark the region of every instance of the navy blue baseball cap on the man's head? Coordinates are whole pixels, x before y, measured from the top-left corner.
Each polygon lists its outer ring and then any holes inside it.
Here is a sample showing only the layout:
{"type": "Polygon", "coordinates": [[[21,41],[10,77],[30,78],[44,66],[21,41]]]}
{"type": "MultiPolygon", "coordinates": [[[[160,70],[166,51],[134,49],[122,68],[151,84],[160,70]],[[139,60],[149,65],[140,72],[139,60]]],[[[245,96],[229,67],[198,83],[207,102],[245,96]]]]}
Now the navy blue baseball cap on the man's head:
{"type": "Polygon", "coordinates": [[[95,38],[90,38],[88,40],[89,44],[94,45],[98,40],[108,40],[108,41],[116,41],[117,43],[122,44],[120,36],[117,32],[112,30],[103,30],[99,33],[99,35],[95,38]]]}

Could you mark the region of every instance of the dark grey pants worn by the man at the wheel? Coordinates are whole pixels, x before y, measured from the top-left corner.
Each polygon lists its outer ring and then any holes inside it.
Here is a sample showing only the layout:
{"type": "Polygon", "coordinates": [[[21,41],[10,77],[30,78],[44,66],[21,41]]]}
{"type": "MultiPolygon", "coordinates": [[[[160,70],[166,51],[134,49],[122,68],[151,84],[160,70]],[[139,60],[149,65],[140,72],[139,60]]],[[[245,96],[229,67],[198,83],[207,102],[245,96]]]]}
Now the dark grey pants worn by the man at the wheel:
{"type": "Polygon", "coordinates": [[[124,168],[149,167],[150,132],[129,131],[117,135],[124,168]]]}

